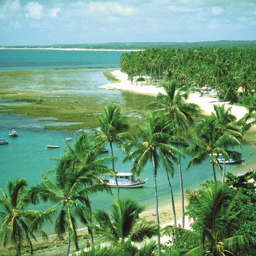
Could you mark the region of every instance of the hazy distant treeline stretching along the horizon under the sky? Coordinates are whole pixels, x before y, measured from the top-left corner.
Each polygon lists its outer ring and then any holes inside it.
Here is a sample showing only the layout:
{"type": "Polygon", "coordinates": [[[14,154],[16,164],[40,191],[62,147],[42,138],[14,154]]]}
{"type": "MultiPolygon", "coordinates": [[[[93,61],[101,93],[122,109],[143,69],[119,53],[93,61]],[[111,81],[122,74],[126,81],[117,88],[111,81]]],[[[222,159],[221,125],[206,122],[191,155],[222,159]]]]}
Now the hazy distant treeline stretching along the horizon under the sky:
{"type": "Polygon", "coordinates": [[[81,48],[81,49],[149,49],[149,48],[198,48],[198,47],[228,47],[228,46],[256,46],[253,41],[206,41],[206,42],[116,42],[105,44],[50,44],[50,45],[22,45],[22,46],[0,46],[4,48],[81,48]]]}

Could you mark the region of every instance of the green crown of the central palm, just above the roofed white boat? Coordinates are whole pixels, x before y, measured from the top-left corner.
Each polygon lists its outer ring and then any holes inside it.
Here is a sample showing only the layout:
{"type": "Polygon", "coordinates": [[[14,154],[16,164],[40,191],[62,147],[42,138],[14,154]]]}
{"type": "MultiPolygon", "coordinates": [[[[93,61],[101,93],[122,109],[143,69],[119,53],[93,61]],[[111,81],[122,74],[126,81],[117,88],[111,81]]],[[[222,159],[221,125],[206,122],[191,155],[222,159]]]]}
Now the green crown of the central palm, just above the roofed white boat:
{"type": "Polygon", "coordinates": [[[145,164],[152,161],[152,156],[154,156],[156,166],[163,163],[169,172],[173,171],[173,162],[177,163],[176,156],[182,154],[170,144],[184,145],[185,143],[183,138],[172,135],[172,127],[172,123],[165,116],[157,113],[148,114],[143,128],[137,126],[137,133],[141,139],[130,140],[124,145],[127,152],[135,148],[124,158],[124,161],[134,160],[133,172],[139,175],[145,164]]]}

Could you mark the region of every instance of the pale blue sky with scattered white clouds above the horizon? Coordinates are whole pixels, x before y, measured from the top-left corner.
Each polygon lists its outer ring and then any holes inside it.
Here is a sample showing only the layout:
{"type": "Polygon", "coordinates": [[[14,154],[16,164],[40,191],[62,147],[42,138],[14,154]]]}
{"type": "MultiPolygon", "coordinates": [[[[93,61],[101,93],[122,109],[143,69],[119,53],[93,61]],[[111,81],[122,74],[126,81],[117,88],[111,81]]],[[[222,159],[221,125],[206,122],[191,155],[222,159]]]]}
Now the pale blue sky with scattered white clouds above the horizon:
{"type": "Polygon", "coordinates": [[[256,0],[0,0],[0,45],[256,40],[256,0]]]}

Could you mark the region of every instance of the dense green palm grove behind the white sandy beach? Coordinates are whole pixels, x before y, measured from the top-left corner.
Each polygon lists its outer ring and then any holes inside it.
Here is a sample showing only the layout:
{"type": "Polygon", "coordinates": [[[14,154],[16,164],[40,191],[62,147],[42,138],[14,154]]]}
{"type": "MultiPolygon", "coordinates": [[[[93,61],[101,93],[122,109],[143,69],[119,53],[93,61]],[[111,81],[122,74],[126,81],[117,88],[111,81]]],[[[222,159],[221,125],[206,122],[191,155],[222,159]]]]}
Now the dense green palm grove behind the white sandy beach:
{"type": "Polygon", "coordinates": [[[175,79],[180,87],[215,89],[224,101],[247,96],[241,102],[250,104],[247,98],[256,90],[255,59],[256,47],[152,48],[122,54],[120,67],[131,81],[142,76],[160,84],[175,79]]]}

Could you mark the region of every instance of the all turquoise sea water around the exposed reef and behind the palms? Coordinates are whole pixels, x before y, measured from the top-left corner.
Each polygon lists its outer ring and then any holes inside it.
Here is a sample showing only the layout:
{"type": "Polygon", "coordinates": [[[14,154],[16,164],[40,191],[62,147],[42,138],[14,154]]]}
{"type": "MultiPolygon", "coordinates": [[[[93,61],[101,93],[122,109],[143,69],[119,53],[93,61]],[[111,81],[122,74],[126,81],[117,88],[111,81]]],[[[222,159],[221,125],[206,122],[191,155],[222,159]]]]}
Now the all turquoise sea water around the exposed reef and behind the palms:
{"type": "MultiPolygon", "coordinates": [[[[99,87],[101,84],[107,84],[109,81],[103,76],[106,70],[115,70],[119,67],[119,58],[123,52],[117,51],[62,51],[62,50],[39,50],[39,49],[0,49],[0,70],[36,70],[34,78],[31,80],[31,86],[37,83],[37,76],[45,72],[45,70],[55,72],[58,70],[58,86],[64,80],[76,81],[77,86],[71,87],[67,84],[61,87],[61,90],[68,93],[84,93],[85,100],[91,100],[93,104],[93,95],[97,92],[98,98],[108,98],[117,105],[122,102],[130,101],[132,98],[137,100],[144,96],[138,96],[135,93],[120,92],[116,90],[105,90],[99,87]],[[86,73],[86,75],[82,75],[86,73]],[[60,83],[61,81],[61,83],[60,83]],[[86,98],[90,97],[90,98],[86,98]],[[138,97],[138,99],[137,99],[138,97]]],[[[13,79],[13,78],[10,78],[13,79]]],[[[12,86],[20,87],[24,81],[12,80],[12,86]]],[[[41,87],[51,86],[41,82],[41,87]]],[[[95,99],[94,99],[95,100],[95,99]]],[[[38,183],[41,180],[41,173],[52,169],[56,162],[51,157],[60,157],[64,154],[66,143],[72,145],[74,139],[66,142],[66,137],[79,135],[79,131],[56,131],[44,129],[45,125],[55,125],[51,119],[32,118],[24,115],[6,114],[1,111],[1,105],[5,101],[0,98],[0,138],[9,140],[8,145],[0,145],[0,188],[6,192],[6,184],[9,179],[14,180],[17,177],[24,177],[28,180],[29,185],[38,183]],[[18,137],[9,137],[9,132],[15,128],[18,131],[18,137]],[[60,148],[49,149],[49,144],[60,145],[60,148]]],[[[15,104],[15,102],[13,102],[15,104]]],[[[103,103],[102,103],[103,104],[103,103]]],[[[134,106],[135,107],[135,106],[134,106]]],[[[227,165],[227,172],[246,172],[248,166],[255,163],[254,157],[250,156],[251,151],[256,151],[256,146],[247,144],[240,149],[245,157],[246,165],[227,165]]],[[[110,153],[102,154],[108,156],[110,153]]],[[[114,148],[114,155],[117,157],[115,164],[116,170],[129,172],[132,163],[122,163],[124,155],[122,152],[114,148]]],[[[201,166],[193,166],[186,171],[189,162],[187,156],[182,160],[183,169],[183,186],[186,189],[195,190],[198,188],[199,182],[211,180],[212,167],[209,162],[205,162],[201,166]]],[[[253,166],[256,167],[256,166],[253,166]]],[[[253,168],[254,169],[254,168],[253,168]]],[[[220,173],[217,177],[221,179],[220,173]]],[[[120,189],[121,198],[134,198],[145,205],[146,209],[152,209],[155,206],[154,201],[154,185],[151,164],[143,170],[140,179],[148,178],[143,189],[120,189]]],[[[175,175],[171,178],[172,188],[175,200],[180,200],[180,183],[178,177],[178,169],[175,166],[175,175]]],[[[157,171],[157,189],[159,196],[159,204],[161,206],[171,206],[171,198],[169,194],[169,186],[166,181],[166,173],[162,166],[157,171]]],[[[116,198],[116,189],[112,189],[113,195],[106,193],[97,193],[90,198],[93,209],[111,208],[111,202],[116,198]]],[[[32,206],[33,209],[47,209],[49,204],[39,204],[32,206]]],[[[170,208],[171,209],[171,208],[170,208]]],[[[177,216],[180,218],[180,216],[177,216]]],[[[52,234],[52,225],[46,225],[48,234],[52,234]]]]}

